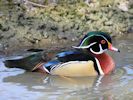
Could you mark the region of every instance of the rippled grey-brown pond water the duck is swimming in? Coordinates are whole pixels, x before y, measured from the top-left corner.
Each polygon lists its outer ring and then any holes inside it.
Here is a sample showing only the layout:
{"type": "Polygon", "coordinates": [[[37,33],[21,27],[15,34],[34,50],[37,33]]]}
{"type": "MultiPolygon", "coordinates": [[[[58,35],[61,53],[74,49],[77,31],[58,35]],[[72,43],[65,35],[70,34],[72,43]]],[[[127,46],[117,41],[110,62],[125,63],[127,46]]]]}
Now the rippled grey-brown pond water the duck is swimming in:
{"type": "Polygon", "coordinates": [[[116,70],[107,76],[68,78],[7,69],[1,57],[0,100],[133,100],[133,40],[117,39],[109,52],[116,70]]]}

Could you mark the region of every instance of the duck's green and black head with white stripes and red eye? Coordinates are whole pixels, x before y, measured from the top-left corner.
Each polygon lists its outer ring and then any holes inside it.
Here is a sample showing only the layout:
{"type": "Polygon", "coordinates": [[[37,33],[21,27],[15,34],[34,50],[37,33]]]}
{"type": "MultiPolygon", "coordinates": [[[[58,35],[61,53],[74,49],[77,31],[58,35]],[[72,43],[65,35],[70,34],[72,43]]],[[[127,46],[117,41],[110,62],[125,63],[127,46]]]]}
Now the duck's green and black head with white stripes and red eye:
{"type": "Polygon", "coordinates": [[[81,40],[78,46],[73,46],[77,49],[87,49],[92,54],[102,54],[106,50],[120,52],[119,49],[113,47],[112,39],[106,32],[93,31],[87,33],[81,40]]]}

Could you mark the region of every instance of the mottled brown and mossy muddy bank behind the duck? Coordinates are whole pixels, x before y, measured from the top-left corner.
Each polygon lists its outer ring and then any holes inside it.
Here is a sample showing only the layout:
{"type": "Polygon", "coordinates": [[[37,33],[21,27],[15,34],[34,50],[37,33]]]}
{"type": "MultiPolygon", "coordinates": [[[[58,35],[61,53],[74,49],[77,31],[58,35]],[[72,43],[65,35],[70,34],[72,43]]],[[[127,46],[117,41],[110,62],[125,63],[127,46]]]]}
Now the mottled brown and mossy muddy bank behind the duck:
{"type": "Polygon", "coordinates": [[[68,48],[88,31],[133,32],[132,0],[40,1],[0,1],[1,53],[68,48]]]}

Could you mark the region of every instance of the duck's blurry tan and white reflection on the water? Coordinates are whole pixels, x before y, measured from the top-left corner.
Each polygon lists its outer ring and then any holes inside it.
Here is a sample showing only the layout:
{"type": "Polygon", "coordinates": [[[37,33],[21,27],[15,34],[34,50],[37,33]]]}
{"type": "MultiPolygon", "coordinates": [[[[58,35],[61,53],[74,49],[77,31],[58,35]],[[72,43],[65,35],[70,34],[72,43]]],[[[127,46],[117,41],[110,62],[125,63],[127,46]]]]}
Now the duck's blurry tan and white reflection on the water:
{"type": "Polygon", "coordinates": [[[42,73],[25,72],[16,76],[8,76],[3,79],[3,82],[18,84],[21,87],[26,87],[29,91],[38,92],[56,92],[56,91],[71,91],[78,93],[83,91],[98,92],[99,88],[106,88],[115,77],[92,76],[92,77],[64,77],[42,75],[42,73]]]}

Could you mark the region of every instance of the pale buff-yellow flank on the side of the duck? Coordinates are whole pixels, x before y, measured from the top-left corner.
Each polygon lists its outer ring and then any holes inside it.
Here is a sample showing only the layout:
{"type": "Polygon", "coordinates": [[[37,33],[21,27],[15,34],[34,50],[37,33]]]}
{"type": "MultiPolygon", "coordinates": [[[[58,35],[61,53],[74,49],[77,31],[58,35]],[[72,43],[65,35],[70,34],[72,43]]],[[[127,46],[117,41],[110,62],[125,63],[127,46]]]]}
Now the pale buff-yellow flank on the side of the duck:
{"type": "Polygon", "coordinates": [[[93,61],[70,61],[53,66],[50,71],[52,75],[60,76],[96,76],[93,61]]]}

